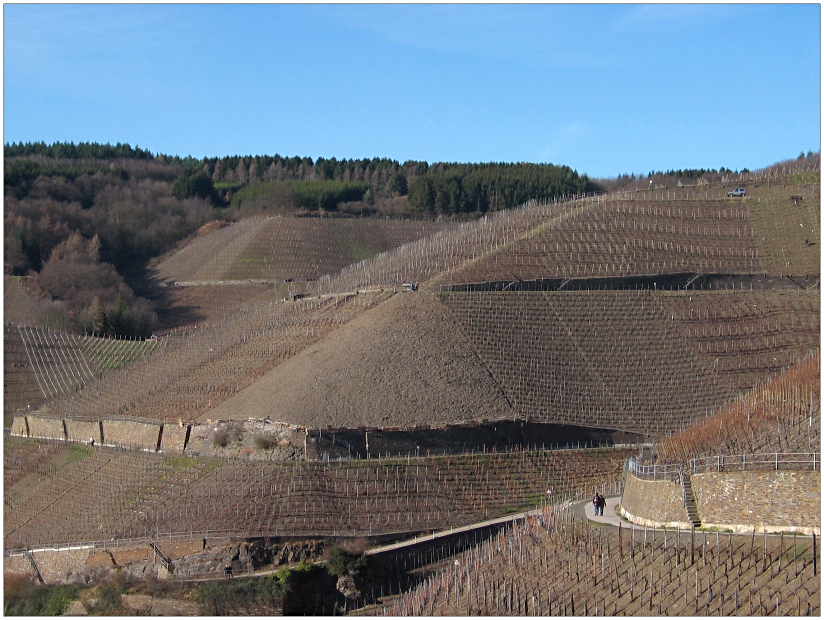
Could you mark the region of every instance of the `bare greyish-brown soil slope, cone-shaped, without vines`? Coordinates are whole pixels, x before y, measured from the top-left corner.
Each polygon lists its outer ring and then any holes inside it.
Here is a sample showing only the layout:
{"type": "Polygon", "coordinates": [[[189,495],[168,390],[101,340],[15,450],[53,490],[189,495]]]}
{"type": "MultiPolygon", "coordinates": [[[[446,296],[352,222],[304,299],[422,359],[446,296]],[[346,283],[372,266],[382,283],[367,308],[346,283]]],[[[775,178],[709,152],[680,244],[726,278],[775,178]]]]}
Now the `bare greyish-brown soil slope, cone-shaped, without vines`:
{"type": "Polygon", "coordinates": [[[314,427],[409,427],[505,419],[512,409],[457,329],[424,293],[397,294],[208,412],[314,427]]]}

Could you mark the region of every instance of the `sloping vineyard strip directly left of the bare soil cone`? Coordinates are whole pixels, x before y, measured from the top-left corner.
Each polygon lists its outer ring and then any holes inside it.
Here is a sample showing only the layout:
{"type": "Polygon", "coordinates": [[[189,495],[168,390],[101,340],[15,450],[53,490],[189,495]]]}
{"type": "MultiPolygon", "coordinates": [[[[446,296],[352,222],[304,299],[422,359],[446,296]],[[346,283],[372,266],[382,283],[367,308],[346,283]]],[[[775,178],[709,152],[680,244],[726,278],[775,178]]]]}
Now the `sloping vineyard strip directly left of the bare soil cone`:
{"type": "Polygon", "coordinates": [[[195,419],[388,295],[245,304],[223,321],[169,335],[154,355],[50,401],[49,412],[195,419]]]}

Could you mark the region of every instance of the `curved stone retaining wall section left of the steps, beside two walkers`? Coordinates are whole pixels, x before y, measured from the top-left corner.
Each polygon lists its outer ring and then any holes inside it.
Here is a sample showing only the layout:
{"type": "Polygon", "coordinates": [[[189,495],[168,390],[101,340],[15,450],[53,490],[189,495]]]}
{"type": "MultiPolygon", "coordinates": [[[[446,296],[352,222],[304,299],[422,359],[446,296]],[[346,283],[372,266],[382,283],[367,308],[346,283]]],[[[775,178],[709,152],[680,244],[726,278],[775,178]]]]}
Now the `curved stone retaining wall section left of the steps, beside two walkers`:
{"type": "Polygon", "coordinates": [[[627,474],[621,514],[639,525],[691,527],[681,484],[669,480],[642,480],[627,474]]]}

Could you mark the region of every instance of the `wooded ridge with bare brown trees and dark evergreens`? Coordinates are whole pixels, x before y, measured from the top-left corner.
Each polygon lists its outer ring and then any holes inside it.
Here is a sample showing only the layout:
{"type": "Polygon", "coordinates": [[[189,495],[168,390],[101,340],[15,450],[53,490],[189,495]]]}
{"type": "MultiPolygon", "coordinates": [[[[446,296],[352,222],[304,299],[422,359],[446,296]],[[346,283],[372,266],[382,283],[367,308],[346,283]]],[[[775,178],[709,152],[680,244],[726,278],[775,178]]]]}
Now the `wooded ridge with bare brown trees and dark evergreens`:
{"type": "Polygon", "coordinates": [[[145,267],[209,221],[316,211],[475,217],[591,191],[567,166],[281,155],[197,159],[129,144],[4,145],[4,274],[29,276],[32,321],[148,336],[145,267]],[[130,286],[131,284],[131,286],[130,286]]]}

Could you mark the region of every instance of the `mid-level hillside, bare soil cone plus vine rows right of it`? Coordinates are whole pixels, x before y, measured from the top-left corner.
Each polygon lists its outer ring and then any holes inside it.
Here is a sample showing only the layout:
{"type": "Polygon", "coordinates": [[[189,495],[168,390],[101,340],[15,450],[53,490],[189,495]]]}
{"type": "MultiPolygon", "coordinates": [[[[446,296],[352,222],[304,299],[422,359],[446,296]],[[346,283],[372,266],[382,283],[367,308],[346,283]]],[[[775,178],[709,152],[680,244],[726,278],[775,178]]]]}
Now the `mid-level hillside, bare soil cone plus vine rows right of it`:
{"type": "Polygon", "coordinates": [[[816,347],[818,299],[786,291],[402,293],[202,418],[319,428],[516,418],[660,436],[816,347]]]}

